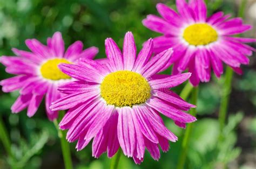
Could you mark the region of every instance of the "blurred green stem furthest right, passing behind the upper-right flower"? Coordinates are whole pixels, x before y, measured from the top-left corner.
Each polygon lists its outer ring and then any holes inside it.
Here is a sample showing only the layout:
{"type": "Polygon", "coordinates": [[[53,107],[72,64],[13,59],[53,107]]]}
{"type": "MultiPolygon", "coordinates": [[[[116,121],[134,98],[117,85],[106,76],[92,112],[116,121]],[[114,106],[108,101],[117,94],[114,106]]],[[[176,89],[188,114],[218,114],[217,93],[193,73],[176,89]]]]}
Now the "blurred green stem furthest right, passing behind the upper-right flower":
{"type": "MultiPolygon", "coordinates": [[[[238,10],[238,17],[241,17],[241,18],[244,17],[246,3],[247,3],[246,0],[242,0],[240,4],[240,8],[238,10]]],[[[227,67],[226,73],[225,73],[223,95],[221,96],[220,110],[219,110],[219,126],[220,126],[221,132],[223,131],[223,128],[225,126],[228,102],[230,101],[230,93],[232,90],[232,87],[231,87],[232,79],[233,79],[233,69],[230,67],[227,67]]]]}

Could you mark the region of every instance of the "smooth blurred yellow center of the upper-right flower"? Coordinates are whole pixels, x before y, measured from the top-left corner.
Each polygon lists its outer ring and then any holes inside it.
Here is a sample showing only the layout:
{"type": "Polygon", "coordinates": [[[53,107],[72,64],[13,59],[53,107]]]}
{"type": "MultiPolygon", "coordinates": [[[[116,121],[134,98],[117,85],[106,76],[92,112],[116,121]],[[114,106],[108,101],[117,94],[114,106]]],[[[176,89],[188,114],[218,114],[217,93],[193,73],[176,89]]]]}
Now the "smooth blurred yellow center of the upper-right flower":
{"type": "Polygon", "coordinates": [[[218,39],[218,33],[208,24],[193,24],[186,27],[183,38],[190,45],[207,45],[218,39]]]}

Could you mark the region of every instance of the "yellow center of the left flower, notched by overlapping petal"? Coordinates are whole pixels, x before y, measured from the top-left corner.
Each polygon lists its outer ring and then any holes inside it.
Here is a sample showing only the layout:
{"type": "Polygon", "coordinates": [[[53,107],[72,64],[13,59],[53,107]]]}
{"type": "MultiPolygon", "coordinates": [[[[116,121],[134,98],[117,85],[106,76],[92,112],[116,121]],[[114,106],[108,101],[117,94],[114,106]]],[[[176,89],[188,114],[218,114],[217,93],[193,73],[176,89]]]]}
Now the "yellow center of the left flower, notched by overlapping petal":
{"type": "Polygon", "coordinates": [[[40,72],[45,79],[50,80],[60,80],[60,79],[70,79],[70,76],[64,74],[58,68],[59,64],[71,64],[66,59],[51,59],[46,61],[40,68],[40,72]]]}

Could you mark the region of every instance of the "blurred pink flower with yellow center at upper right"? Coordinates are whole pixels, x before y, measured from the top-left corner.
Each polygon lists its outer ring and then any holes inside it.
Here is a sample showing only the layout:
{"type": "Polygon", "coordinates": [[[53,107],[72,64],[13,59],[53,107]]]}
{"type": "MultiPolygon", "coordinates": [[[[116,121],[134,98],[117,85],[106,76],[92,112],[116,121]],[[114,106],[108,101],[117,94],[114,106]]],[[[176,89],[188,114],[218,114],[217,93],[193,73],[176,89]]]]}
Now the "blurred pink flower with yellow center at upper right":
{"type": "Polygon", "coordinates": [[[192,73],[190,82],[197,86],[199,82],[208,82],[211,69],[219,78],[223,74],[225,62],[235,72],[241,74],[240,65],[247,65],[255,51],[244,43],[255,42],[251,38],[231,37],[251,29],[242,24],[241,18],[230,18],[223,12],[206,17],[207,8],[203,0],[176,1],[178,13],[164,4],[157,4],[161,17],[149,15],[143,24],[152,31],[163,33],[154,38],[154,52],[159,53],[173,47],[173,74],[185,71],[192,73]]]}

